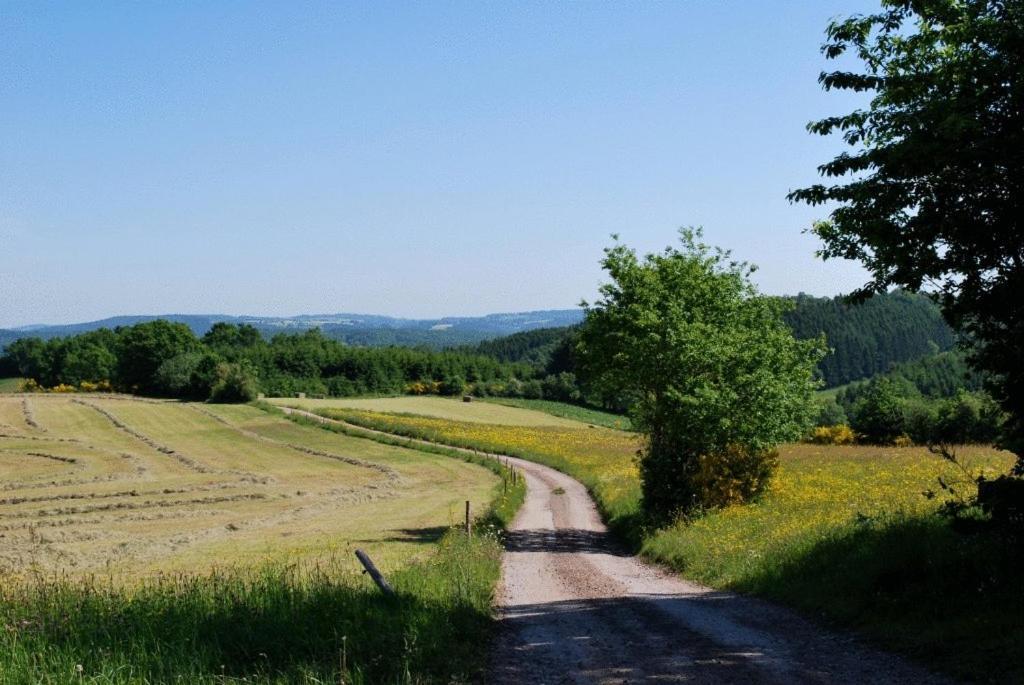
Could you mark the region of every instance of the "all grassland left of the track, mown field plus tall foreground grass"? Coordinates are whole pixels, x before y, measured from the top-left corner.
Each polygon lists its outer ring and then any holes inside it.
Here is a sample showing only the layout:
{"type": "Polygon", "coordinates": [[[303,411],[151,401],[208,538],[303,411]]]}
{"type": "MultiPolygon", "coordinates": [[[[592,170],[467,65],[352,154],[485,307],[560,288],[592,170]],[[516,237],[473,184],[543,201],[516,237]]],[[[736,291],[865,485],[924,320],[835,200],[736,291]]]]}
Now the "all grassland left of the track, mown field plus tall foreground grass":
{"type": "Polygon", "coordinates": [[[252,405],[2,396],[0,683],[471,681],[502,476],[252,405]]]}

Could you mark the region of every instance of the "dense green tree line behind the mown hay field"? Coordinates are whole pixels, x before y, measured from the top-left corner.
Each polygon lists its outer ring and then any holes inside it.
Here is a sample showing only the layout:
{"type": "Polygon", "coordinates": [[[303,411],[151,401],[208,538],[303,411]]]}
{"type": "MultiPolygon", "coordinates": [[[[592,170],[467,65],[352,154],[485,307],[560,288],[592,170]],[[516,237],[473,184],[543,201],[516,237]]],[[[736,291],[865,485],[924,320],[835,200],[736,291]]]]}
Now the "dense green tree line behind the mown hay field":
{"type": "MultiPolygon", "coordinates": [[[[23,338],[0,356],[0,372],[39,386],[109,384],[126,392],[246,401],[269,395],[522,394],[528,365],[464,351],[350,347],[313,330],[269,340],[248,325],[216,324],[198,337],[163,319],[77,336],[23,338]]],[[[106,387],[105,385],[103,387],[106,387]]]]}

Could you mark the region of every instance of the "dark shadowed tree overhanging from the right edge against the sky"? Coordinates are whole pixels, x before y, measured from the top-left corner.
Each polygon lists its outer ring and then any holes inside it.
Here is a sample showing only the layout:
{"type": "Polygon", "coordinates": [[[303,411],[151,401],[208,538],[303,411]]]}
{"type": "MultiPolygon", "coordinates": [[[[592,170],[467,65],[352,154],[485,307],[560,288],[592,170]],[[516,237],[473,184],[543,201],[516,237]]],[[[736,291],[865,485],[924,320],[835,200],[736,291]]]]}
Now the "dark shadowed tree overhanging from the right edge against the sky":
{"type": "Polygon", "coordinates": [[[866,109],[810,124],[853,148],[833,179],[792,201],[831,204],[820,255],[861,261],[867,297],[927,287],[974,343],[972,361],[1008,412],[1004,446],[1024,473],[1024,2],[884,0],[834,22],[826,89],[872,93],[866,109]]]}

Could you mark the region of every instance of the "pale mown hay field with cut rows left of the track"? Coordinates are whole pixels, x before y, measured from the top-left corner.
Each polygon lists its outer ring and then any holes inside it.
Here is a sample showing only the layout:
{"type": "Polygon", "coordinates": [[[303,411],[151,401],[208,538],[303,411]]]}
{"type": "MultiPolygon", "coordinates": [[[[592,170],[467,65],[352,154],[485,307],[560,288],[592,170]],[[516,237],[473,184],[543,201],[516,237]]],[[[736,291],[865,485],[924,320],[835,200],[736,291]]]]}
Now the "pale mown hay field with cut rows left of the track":
{"type": "Polygon", "coordinates": [[[247,405],[0,396],[0,574],[138,575],[432,549],[497,476],[247,405]]]}

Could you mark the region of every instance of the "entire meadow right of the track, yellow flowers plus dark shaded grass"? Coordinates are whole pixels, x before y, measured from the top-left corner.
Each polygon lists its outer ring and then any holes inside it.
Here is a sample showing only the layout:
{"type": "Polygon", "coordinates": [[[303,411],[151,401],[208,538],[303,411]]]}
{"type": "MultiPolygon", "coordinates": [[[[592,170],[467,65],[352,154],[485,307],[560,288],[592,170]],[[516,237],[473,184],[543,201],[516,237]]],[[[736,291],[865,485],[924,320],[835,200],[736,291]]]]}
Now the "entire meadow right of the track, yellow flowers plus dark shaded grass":
{"type": "MultiPolygon", "coordinates": [[[[923,496],[959,476],[923,447],[783,445],[761,501],[650,530],[638,515],[632,434],[578,425],[516,427],[430,417],[326,412],[430,440],[503,452],[572,474],[609,523],[652,560],[719,588],[770,597],[862,631],[885,646],[974,680],[1024,678],[1019,541],[952,524],[923,496]],[[951,647],[951,645],[955,645],[951,647]]],[[[979,472],[1008,453],[966,446],[979,472]]]]}

